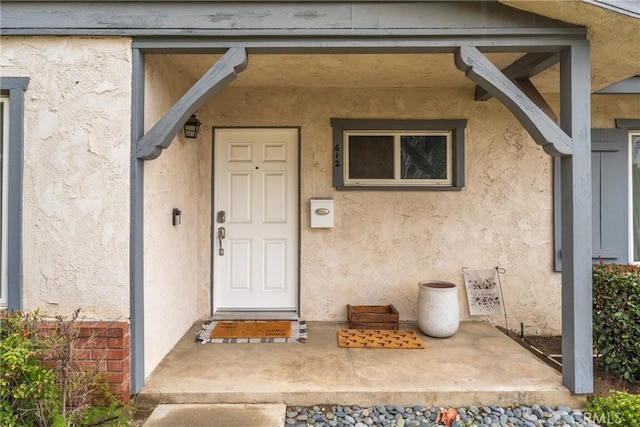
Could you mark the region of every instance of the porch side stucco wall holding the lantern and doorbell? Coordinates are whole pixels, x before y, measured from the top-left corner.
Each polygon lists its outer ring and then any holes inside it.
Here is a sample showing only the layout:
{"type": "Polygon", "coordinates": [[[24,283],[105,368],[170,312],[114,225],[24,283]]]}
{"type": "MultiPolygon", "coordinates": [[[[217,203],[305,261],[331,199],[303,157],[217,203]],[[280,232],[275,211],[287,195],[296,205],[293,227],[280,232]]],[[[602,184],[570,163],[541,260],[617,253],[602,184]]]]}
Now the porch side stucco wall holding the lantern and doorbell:
{"type": "MultiPolygon", "coordinates": [[[[187,82],[176,78],[175,70],[164,67],[160,59],[149,56],[146,61],[147,130],[188,89],[187,82]]],[[[205,230],[208,236],[208,230],[198,227],[200,181],[195,165],[205,134],[194,140],[180,132],[160,157],[144,163],[145,375],[202,314],[196,308],[196,254],[198,232],[205,230]],[[182,212],[181,224],[176,226],[172,225],[174,208],[182,212]]]]}

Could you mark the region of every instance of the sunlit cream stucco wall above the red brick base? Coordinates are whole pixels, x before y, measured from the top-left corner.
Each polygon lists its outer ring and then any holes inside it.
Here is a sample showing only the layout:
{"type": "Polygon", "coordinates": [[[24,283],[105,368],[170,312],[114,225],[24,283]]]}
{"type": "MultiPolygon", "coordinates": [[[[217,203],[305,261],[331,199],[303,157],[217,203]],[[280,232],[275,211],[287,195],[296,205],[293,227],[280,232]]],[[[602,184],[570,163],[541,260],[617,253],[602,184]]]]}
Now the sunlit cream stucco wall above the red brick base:
{"type": "Polygon", "coordinates": [[[3,37],[0,74],[30,79],[24,309],[128,318],[130,40],[3,37]]]}

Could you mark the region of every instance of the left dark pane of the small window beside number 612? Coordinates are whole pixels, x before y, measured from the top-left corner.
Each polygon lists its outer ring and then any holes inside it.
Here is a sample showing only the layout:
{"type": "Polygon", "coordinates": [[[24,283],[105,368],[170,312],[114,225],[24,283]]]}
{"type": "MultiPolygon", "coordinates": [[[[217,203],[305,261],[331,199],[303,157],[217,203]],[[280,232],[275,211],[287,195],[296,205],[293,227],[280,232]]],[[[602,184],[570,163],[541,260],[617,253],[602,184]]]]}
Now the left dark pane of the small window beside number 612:
{"type": "Polygon", "coordinates": [[[349,179],[393,178],[393,136],[349,136],[349,179]]]}

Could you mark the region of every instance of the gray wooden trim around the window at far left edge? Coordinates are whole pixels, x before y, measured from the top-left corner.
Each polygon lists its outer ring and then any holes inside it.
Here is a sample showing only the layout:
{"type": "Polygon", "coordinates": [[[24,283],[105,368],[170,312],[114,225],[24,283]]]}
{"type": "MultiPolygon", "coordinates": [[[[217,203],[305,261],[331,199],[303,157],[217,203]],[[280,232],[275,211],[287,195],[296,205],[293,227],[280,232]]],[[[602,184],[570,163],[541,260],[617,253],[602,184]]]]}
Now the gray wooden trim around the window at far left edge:
{"type": "Polygon", "coordinates": [[[9,183],[7,275],[9,310],[22,309],[22,167],[24,158],[24,92],[28,77],[0,77],[0,91],[9,93],[9,183]]]}

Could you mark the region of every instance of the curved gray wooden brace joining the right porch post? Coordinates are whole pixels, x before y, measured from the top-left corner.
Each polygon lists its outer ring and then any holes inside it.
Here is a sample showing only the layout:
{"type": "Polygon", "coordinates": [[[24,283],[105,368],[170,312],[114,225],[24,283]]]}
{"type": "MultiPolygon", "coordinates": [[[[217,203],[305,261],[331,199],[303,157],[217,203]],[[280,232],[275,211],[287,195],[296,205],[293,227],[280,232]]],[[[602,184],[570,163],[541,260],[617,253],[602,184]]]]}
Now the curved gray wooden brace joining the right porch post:
{"type": "Polygon", "coordinates": [[[477,48],[461,47],[456,67],[502,102],[522,123],[534,141],[553,156],[571,154],[571,138],[477,48]]]}

